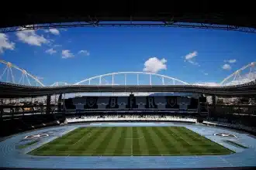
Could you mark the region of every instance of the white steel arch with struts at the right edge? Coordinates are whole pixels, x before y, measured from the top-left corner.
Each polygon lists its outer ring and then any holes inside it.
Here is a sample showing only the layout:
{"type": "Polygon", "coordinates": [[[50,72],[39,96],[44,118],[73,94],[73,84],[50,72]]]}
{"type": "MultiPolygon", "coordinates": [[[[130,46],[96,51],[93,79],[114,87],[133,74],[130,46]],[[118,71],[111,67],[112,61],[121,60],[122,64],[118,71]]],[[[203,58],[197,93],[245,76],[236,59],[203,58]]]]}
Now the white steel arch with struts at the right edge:
{"type": "Polygon", "coordinates": [[[221,86],[239,85],[243,83],[249,83],[256,80],[256,62],[252,62],[247,66],[243,66],[239,70],[227,76],[222,82],[221,86]]]}

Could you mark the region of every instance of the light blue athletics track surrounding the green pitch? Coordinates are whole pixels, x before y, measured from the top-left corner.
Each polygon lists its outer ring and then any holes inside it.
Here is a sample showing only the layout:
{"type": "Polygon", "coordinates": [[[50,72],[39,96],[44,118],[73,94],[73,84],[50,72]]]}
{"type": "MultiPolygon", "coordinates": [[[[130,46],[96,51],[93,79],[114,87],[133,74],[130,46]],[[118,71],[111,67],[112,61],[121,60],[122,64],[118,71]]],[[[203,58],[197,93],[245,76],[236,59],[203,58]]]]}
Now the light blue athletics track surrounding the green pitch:
{"type": "Polygon", "coordinates": [[[55,128],[16,134],[0,142],[0,167],[4,168],[220,168],[256,167],[256,138],[246,133],[230,129],[207,127],[201,124],[181,123],[94,123],[71,124],[55,128]],[[78,127],[88,126],[184,126],[195,131],[236,153],[231,155],[207,156],[33,156],[29,151],[54,140],[78,127]],[[48,134],[39,138],[36,144],[19,149],[17,145],[26,143],[26,136],[31,134],[48,134]],[[216,133],[234,134],[234,137],[216,136],[216,133]],[[248,148],[238,148],[224,140],[236,141],[248,148]]]}

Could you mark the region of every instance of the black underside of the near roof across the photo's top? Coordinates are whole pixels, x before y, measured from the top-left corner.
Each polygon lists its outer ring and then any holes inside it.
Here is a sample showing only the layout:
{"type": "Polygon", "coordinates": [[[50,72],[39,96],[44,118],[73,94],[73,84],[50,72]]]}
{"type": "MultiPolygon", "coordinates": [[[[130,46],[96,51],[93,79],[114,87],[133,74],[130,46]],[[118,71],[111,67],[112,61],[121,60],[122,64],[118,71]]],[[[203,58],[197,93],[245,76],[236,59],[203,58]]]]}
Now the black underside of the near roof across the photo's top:
{"type": "Polygon", "coordinates": [[[218,0],[210,2],[91,1],[80,5],[80,7],[77,3],[61,3],[58,7],[43,3],[40,4],[43,11],[22,8],[21,12],[2,13],[0,15],[0,28],[2,28],[0,32],[8,32],[9,30],[3,30],[3,28],[15,26],[33,25],[30,29],[37,29],[36,26],[39,24],[60,22],[78,22],[76,26],[80,22],[88,22],[92,26],[97,26],[100,22],[123,24],[123,21],[162,22],[166,26],[175,22],[189,22],[256,29],[255,10],[252,2],[218,0]]]}

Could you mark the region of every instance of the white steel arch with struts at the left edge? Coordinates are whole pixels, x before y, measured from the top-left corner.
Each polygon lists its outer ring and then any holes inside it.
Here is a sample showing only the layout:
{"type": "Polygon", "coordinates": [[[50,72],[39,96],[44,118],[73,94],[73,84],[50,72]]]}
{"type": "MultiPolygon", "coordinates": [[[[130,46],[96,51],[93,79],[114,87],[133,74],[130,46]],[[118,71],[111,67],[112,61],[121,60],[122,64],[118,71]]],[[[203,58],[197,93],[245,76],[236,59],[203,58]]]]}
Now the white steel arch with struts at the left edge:
{"type": "Polygon", "coordinates": [[[0,59],[0,70],[2,70],[0,72],[0,81],[2,82],[44,87],[39,77],[33,76],[19,66],[2,59],[0,59]]]}

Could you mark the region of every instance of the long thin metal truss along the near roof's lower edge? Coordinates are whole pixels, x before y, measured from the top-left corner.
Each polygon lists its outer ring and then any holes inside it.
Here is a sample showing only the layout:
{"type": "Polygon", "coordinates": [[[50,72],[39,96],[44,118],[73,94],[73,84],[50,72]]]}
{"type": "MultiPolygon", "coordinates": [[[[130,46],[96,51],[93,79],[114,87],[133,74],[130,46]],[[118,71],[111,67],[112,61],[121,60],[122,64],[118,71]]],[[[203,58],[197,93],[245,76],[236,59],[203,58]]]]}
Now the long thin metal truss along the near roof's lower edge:
{"type": "Polygon", "coordinates": [[[27,26],[16,26],[0,28],[0,32],[17,32],[30,29],[52,29],[52,28],[71,28],[71,27],[180,27],[196,29],[220,29],[227,31],[256,33],[256,29],[240,26],[227,26],[206,23],[190,22],[60,22],[46,24],[32,24],[27,26]]]}

